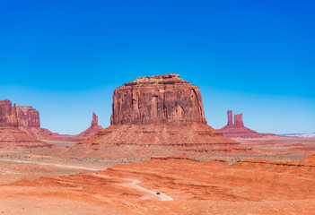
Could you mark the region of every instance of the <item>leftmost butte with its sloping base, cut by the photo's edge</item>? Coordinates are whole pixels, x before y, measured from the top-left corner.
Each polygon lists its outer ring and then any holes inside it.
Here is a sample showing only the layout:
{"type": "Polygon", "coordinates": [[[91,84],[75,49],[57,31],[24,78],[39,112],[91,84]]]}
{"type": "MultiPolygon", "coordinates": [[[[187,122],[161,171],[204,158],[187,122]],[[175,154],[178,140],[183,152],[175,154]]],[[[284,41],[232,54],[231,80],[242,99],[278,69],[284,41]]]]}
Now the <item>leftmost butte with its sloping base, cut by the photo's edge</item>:
{"type": "Polygon", "coordinates": [[[41,142],[18,128],[18,115],[15,104],[8,99],[0,100],[0,149],[22,150],[52,145],[41,142]]]}

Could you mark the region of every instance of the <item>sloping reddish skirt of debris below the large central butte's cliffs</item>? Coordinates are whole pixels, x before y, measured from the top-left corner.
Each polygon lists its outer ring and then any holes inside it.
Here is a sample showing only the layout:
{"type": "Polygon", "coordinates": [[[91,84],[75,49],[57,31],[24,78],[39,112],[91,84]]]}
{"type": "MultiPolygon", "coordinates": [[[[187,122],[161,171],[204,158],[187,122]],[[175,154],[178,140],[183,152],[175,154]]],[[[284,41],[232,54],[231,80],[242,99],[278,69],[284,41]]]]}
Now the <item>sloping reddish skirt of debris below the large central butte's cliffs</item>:
{"type": "MultiPolygon", "coordinates": [[[[147,152],[156,147],[162,149],[160,155],[169,155],[171,150],[203,153],[244,153],[242,147],[206,124],[190,125],[110,125],[91,138],[79,142],[74,149],[103,150],[106,147],[128,146],[139,152],[147,152]],[[139,148],[140,147],[140,148],[139,148]],[[142,149],[141,149],[142,148],[142,149]]],[[[105,152],[105,151],[104,151],[105,152]]],[[[154,153],[152,153],[154,155],[154,153]]],[[[143,155],[138,155],[143,156],[143,155]]],[[[144,156],[145,158],[145,156],[144,156]]]]}

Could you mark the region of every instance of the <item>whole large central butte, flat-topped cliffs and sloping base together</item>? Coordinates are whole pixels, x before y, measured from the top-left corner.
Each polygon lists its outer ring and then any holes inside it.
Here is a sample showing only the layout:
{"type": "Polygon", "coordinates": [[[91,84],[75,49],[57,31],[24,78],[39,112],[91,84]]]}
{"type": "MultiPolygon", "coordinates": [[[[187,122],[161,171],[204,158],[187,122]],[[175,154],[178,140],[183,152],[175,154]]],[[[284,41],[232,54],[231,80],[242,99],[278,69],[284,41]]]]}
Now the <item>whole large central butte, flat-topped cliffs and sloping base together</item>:
{"type": "MultiPolygon", "coordinates": [[[[112,146],[166,147],[197,152],[246,152],[248,149],[206,124],[201,94],[179,74],[140,77],[114,90],[110,126],[74,149],[112,146]]],[[[140,149],[138,148],[140,147],[140,149]]]]}

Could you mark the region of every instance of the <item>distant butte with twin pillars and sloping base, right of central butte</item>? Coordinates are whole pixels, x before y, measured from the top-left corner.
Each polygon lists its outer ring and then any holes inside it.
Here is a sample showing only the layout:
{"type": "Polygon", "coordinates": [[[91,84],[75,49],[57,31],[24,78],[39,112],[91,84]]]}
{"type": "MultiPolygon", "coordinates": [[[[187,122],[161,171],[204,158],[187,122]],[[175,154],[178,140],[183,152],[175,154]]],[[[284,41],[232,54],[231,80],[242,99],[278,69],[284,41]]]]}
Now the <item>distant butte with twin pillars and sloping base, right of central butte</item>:
{"type": "Polygon", "coordinates": [[[222,132],[224,136],[230,138],[257,138],[265,136],[276,136],[274,133],[258,133],[248,127],[244,126],[243,115],[236,114],[234,115],[234,123],[232,119],[232,110],[228,110],[228,123],[223,128],[218,129],[219,132],[222,132]]]}

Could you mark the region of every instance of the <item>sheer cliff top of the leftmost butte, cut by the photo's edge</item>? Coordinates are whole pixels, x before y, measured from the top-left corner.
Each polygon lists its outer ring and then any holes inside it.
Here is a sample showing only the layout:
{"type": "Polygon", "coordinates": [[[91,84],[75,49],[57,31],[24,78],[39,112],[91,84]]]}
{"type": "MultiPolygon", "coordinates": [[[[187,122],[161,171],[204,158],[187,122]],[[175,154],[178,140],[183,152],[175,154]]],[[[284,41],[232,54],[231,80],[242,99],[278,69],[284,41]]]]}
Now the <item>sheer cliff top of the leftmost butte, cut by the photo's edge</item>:
{"type": "Polygon", "coordinates": [[[17,127],[18,117],[15,104],[8,99],[0,100],[0,127],[17,127]]]}

